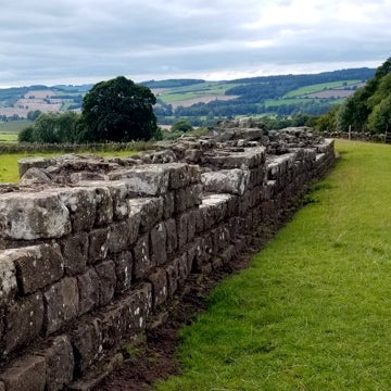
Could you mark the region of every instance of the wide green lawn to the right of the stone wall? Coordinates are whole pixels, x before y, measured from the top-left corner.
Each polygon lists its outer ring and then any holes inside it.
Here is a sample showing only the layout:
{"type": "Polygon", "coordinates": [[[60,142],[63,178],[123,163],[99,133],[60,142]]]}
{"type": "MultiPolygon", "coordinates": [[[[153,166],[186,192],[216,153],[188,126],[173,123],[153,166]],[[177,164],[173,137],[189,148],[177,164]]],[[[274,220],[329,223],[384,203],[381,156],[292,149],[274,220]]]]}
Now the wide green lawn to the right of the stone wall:
{"type": "Polygon", "coordinates": [[[391,147],[338,141],[312,203],[211,294],[160,391],[391,389],[391,147]]]}

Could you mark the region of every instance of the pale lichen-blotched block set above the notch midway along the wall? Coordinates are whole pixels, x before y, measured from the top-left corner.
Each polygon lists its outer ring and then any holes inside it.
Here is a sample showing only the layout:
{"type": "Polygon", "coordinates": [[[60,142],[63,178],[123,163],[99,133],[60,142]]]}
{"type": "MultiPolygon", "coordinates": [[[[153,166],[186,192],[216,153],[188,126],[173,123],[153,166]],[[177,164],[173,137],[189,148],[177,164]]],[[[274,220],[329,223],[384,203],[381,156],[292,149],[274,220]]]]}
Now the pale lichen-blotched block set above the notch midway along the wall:
{"type": "Polygon", "coordinates": [[[249,187],[249,171],[234,168],[201,175],[203,190],[211,193],[243,194],[249,187]]]}

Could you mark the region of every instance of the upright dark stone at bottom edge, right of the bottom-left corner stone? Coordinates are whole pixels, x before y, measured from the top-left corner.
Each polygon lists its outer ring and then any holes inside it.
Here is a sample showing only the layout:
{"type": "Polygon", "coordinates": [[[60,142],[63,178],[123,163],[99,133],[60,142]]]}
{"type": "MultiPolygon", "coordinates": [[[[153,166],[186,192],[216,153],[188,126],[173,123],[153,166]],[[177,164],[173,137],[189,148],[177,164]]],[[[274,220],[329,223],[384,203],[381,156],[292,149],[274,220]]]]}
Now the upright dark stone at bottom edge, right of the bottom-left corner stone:
{"type": "Polygon", "coordinates": [[[75,367],[73,349],[68,336],[55,337],[39,355],[46,361],[46,390],[58,391],[71,382],[75,367]]]}

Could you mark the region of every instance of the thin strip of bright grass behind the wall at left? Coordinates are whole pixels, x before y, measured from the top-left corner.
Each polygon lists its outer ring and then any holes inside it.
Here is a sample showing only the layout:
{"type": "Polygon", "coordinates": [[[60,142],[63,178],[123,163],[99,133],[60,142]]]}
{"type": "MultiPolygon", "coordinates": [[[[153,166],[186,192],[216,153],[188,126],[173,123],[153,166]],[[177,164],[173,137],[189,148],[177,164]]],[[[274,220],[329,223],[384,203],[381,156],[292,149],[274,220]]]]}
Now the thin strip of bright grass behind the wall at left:
{"type": "MultiPolygon", "coordinates": [[[[129,156],[137,153],[138,151],[118,151],[118,152],[94,152],[100,156],[129,156]]],[[[65,153],[65,152],[64,152],[65,153]]],[[[17,171],[17,161],[24,157],[33,156],[43,156],[52,157],[60,156],[64,153],[9,153],[0,154],[0,182],[17,182],[18,181],[18,171],[17,171]]],[[[86,152],[88,153],[88,152],[86,152]]]]}

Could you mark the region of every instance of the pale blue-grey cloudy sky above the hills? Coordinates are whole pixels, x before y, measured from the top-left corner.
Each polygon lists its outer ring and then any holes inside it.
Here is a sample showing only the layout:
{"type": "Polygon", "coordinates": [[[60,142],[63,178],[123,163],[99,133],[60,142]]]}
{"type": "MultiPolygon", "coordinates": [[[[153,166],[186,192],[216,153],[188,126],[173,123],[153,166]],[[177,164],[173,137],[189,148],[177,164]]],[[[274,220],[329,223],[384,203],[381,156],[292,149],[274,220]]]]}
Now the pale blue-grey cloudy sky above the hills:
{"type": "Polygon", "coordinates": [[[391,0],[0,0],[0,87],[377,67],[391,0]]]}

